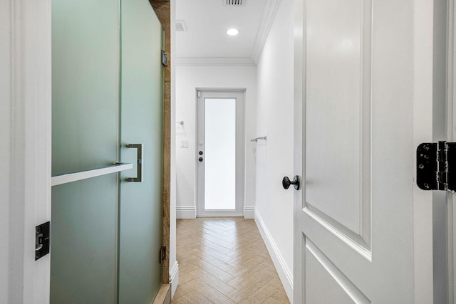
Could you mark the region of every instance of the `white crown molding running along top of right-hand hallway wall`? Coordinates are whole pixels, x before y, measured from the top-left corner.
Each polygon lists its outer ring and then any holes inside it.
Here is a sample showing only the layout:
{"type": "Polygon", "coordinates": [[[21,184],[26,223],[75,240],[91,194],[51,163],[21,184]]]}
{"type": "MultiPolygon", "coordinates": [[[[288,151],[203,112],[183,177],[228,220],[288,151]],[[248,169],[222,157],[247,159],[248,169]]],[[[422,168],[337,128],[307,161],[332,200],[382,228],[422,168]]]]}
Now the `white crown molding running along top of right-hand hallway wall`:
{"type": "Polygon", "coordinates": [[[264,5],[263,14],[259,23],[257,37],[255,37],[254,49],[252,51],[252,60],[255,64],[258,63],[261,53],[263,52],[264,44],[268,38],[269,31],[271,31],[272,23],[277,11],[279,11],[281,0],[266,0],[264,5]]]}

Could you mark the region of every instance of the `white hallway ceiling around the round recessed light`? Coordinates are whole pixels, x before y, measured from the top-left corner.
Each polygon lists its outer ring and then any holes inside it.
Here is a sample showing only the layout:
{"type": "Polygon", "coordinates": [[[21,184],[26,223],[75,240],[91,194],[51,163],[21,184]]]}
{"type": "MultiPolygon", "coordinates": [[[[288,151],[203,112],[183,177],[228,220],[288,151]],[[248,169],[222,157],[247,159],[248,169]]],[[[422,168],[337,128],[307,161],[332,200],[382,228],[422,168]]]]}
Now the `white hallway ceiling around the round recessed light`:
{"type": "Polygon", "coordinates": [[[224,6],[226,0],[176,0],[176,20],[187,31],[176,31],[177,63],[257,63],[279,0],[243,0],[244,6],[224,6]],[[237,36],[228,36],[237,28],[237,36]]]}

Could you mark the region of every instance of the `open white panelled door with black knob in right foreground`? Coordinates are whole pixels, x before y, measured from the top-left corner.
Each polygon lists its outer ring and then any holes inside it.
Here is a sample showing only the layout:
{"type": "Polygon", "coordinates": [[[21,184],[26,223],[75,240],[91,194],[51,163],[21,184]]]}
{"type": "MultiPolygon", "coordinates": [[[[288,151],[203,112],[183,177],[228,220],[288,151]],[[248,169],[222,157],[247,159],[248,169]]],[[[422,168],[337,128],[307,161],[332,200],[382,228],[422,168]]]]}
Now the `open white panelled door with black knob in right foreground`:
{"type": "Polygon", "coordinates": [[[294,303],[432,303],[432,4],[296,1],[294,303]]]}

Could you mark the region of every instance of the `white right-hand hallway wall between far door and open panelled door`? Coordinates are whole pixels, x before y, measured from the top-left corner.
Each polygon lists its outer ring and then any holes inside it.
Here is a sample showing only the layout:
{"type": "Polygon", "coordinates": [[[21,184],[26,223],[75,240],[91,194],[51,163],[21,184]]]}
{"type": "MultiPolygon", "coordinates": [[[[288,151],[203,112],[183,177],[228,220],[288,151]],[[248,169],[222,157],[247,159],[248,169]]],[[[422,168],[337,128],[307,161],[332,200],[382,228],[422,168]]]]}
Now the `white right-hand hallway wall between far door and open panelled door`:
{"type": "Polygon", "coordinates": [[[293,169],[293,0],[281,0],[257,70],[257,202],[255,219],[286,293],[293,285],[293,192],[281,186],[293,169]],[[271,252],[272,251],[272,252],[271,252]]]}

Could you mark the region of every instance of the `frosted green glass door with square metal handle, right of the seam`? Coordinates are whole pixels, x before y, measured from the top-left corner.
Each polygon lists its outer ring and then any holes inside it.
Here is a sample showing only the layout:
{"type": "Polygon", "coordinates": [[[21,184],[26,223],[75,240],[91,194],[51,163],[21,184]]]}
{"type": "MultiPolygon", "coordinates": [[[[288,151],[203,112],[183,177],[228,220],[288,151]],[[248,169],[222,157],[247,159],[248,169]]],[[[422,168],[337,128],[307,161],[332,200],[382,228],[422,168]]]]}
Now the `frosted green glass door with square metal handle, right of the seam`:
{"type": "MultiPolygon", "coordinates": [[[[152,303],[161,285],[163,67],[162,26],[147,0],[121,2],[123,162],[136,164],[142,144],[142,182],[120,182],[119,303],[152,303]]],[[[135,165],[136,167],[136,165],[135,165]]]]}

